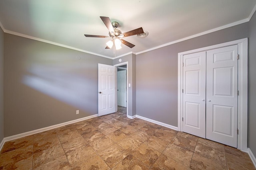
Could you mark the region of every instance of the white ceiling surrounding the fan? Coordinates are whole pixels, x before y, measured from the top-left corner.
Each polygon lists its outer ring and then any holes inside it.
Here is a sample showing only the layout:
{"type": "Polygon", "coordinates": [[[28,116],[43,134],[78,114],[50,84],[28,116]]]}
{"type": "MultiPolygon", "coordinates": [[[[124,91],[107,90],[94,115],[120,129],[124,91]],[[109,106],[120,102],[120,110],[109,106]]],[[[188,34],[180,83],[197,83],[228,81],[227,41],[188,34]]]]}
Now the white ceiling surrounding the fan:
{"type": "Polygon", "coordinates": [[[105,49],[108,35],[100,19],[118,21],[122,33],[142,27],[149,35],[124,40],[116,56],[142,53],[166,44],[249,21],[256,0],[0,0],[0,26],[22,35],[72,49],[115,57],[105,49]]]}

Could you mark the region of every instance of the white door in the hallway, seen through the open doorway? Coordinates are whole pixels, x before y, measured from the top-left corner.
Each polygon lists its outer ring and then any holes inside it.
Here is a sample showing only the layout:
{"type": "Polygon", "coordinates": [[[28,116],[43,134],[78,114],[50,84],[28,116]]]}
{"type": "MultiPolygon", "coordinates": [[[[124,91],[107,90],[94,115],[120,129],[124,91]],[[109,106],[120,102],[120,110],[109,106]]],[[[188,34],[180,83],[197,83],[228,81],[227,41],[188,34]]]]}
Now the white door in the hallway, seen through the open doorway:
{"type": "Polygon", "coordinates": [[[126,70],[117,72],[117,104],[126,107],[126,70]]]}

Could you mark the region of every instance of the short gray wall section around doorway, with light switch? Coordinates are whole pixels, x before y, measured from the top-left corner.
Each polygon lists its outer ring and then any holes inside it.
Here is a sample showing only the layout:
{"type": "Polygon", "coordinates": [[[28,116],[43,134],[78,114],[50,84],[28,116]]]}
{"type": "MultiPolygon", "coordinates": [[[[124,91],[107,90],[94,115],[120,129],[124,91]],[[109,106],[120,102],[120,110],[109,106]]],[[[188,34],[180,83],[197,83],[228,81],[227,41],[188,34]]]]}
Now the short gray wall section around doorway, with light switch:
{"type": "Polygon", "coordinates": [[[128,62],[128,83],[131,87],[128,88],[128,115],[136,115],[136,55],[129,54],[124,57],[113,60],[113,65],[119,64],[119,59],[122,59],[121,63],[128,62]]]}

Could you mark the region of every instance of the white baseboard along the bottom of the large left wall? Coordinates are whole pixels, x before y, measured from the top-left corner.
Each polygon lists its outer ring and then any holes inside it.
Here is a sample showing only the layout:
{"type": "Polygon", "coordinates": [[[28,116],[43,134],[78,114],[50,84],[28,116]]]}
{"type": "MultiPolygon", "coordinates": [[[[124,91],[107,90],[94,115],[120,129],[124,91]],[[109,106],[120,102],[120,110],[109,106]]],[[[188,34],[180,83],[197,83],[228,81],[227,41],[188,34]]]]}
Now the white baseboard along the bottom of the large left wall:
{"type": "Polygon", "coordinates": [[[90,115],[90,116],[83,117],[83,118],[76,119],[76,120],[72,120],[72,121],[67,121],[67,122],[64,122],[64,123],[57,124],[57,125],[44,127],[44,128],[41,128],[41,129],[36,129],[34,131],[28,131],[28,132],[25,132],[25,133],[20,133],[20,134],[13,135],[13,136],[10,136],[10,137],[5,137],[4,142],[11,141],[11,140],[14,140],[14,139],[18,139],[18,138],[21,138],[21,137],[26,137],[28,135],[34,135],[36,133],[48,131],[48,130],[51,130],[51,129],[55,129],[55,128],[62,127],[62,126],[65,126],[65,125],[69,125],[69,124],[72,124],[72,123],[83,121],[83,120],[86,120],[86,119],[91,119],[93,117],[98,117],[98,114],[90,115]]]}

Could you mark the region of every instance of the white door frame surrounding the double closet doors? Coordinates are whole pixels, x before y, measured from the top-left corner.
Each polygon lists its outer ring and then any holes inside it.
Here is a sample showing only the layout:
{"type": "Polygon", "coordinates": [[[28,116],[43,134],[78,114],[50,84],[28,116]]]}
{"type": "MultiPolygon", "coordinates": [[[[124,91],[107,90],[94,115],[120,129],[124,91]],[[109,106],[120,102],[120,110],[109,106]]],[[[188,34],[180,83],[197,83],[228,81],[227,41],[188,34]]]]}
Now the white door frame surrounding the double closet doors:
{"type": "Polygon", "coordinates": [[[248,38],[212,45],[190,51],[178,53],[178,131],[182,129],[182,84],[183,84],[183,55],[217,49],[230,45],[238,45],[238,136],[237,149],[248,152],[247,124],[248,124],[248,38]]]}

